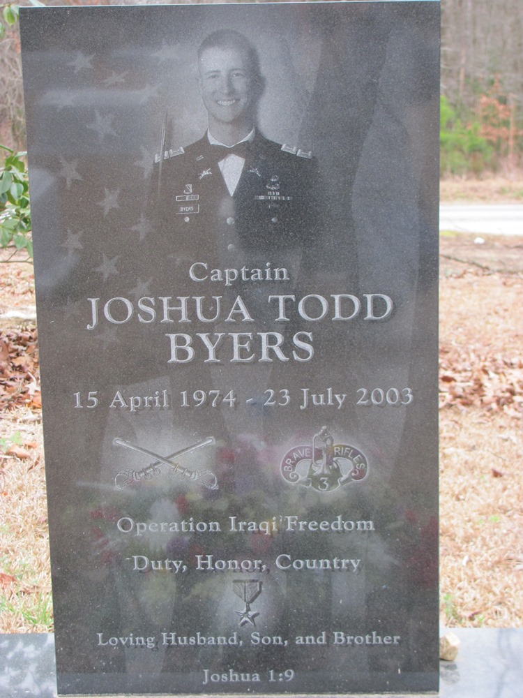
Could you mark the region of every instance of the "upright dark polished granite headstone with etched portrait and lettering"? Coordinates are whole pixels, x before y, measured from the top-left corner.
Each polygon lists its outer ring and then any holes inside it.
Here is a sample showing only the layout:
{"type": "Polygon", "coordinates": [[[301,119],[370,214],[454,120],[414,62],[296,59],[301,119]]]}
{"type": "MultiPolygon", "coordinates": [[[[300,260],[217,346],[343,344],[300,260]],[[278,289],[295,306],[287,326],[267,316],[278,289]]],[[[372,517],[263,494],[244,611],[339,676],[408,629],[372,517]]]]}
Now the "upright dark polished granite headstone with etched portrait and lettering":
{"type": "Polygon", "coordinates": [[[20,15],[59,692],[437,690],[439,3],[20,15]]]}

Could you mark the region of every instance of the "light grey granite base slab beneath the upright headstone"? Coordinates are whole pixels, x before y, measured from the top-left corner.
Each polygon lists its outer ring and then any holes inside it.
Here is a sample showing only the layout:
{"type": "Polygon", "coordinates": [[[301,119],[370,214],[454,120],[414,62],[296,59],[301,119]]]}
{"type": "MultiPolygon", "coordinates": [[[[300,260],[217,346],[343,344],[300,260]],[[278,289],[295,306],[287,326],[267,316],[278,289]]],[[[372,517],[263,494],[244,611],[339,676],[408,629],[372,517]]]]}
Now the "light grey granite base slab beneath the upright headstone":
{"type": "MultiPolygon", "coordinates": [[[[523,630],[452,632],[461,647],[455,662],[441,662],[441,698],[522,697],[523,630]]],[[[52,634],[0,635],[0,698],[21,696],[56,696],[52,634]]]]}

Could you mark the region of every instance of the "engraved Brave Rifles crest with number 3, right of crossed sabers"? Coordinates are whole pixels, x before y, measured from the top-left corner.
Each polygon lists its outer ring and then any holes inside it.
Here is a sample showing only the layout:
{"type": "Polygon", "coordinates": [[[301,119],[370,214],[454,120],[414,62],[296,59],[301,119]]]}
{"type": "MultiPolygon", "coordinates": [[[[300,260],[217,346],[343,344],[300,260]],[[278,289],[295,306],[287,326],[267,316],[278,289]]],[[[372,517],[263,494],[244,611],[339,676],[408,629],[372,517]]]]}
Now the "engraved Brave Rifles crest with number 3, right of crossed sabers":
{"type": "Polygon", "coordinates": [[[369,464],[365,455],[347,443],[334,443],[323,426],[312,438],[312,444],[291,448],[281,463],[281,472],[290,484],[312,487],[319,492],[332,492],[349,482],[365,480],[369,464]]]}

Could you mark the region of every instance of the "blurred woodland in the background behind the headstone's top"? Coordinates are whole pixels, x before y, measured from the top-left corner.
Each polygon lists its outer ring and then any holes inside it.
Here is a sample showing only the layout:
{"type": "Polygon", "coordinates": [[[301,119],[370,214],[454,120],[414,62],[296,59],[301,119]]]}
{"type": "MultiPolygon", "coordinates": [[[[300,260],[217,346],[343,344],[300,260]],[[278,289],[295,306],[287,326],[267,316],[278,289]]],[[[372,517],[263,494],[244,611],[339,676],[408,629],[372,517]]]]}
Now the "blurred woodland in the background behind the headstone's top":
{"type": "MultiPolygon", "coordinates": [[[[0,143],[15,151],[25,142],[17,4],[29,2],[1,3],[0,20],[0,143]]],[[[523,2],[441,0],[441,174],[508,174],[522,166],[522,156],[523,2]]]]}

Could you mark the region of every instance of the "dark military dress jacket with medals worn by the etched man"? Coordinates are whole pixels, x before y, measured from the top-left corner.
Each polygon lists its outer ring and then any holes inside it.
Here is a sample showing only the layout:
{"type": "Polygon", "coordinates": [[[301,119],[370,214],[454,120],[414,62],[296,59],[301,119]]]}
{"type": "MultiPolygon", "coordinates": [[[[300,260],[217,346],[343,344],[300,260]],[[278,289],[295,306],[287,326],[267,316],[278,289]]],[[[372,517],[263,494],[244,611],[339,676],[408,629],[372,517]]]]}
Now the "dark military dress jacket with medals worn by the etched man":
{"type": "Polygon", "coordinates": [[[228,149],[212,145],[206,134],[156,161],[160,228],[185,258],[205,255],[217,264],[251,267],[273,260],[281,266],[310,247],[317,213],[311,153],[259,133],[228,149]],[[232,194],[218,165],[231,153],[245,158],[232,194]]]}

